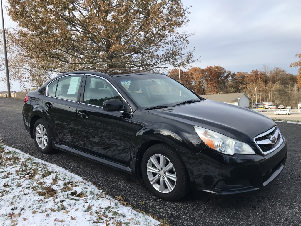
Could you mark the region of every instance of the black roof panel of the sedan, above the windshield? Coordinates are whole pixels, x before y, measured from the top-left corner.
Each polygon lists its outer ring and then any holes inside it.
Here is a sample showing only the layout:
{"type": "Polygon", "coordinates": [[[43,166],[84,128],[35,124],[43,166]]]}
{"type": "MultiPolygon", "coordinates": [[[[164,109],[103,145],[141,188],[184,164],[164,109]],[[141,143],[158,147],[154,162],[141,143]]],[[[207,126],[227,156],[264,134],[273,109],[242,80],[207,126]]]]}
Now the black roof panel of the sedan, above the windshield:
{"type": "Polygon", "coordinates": [[[93,69],[93,70],[83,70],[83,72],[87,71],[96,71],[105,73],[107,75],[110,75],[112,77],[115,76],[123,76],[123,75],[134,75],[134,74],[162,74],[155,71],[147,71],[147,70],[141,70],[141,69],[132,69],[132,68],[99,68],[99,69],[93,69]]]}

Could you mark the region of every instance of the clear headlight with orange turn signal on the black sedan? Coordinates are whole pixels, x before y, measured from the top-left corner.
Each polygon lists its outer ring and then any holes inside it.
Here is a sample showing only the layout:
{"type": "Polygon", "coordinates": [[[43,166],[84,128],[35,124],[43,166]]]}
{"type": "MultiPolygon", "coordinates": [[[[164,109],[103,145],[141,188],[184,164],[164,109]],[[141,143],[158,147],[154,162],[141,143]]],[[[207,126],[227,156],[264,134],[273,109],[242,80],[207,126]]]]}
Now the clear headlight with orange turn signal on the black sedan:
{"type": "Polygon", "coordinates": [[[254,150],[244,142],[198,126],[194,126],[194,130],[208,147],[223,154],[255,154],[254,150]]]}

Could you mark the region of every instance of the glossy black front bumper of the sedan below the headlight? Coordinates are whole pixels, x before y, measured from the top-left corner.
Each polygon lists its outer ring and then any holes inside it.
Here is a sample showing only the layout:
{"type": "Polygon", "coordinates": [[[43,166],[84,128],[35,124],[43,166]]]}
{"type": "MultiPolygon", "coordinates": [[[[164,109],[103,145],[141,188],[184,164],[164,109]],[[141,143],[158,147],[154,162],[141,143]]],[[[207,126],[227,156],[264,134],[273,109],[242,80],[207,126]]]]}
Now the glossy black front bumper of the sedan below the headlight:
{"type": "Polygon", "coordinates": [[[265,156],[260,153],[229,156],[210,148],[197,154],[179,153],[187,166],[192,187],[227,195],[258,190],[274,180],[286,163],[287,145],[284,139],[277,150],[265,156]]]}

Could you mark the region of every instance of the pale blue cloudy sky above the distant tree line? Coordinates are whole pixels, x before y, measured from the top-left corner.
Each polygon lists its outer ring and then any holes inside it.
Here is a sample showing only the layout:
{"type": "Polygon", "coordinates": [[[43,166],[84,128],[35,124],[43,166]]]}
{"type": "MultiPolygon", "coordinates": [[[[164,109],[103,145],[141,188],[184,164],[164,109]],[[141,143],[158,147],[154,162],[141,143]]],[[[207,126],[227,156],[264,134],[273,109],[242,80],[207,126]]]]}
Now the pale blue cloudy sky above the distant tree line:
{"type": "MultiPolygon", "coordinates": [[[[192,67],[219,65],[231,72],[281,67],[291,74],[298,68],[289,67],[301,53],[301,1],[299,0],[182,0],[191,5],[188,30],[195,33],[189,48],[195,47],[199,61],[192,67]]],[[[3,1],[7,5],[6,1],[3,1]]],[[[5,27],[16,24],[4,9],[5,27]]],[[[187,68],[189,69],[189,68],[187,68]]],[[[184,69],[185,70],[185,69],[184,69]]],[[[0,81],[0,90],[6,84],[0,81]]],[[[11,81],[11,90],[19,84],[11,81]]]]}

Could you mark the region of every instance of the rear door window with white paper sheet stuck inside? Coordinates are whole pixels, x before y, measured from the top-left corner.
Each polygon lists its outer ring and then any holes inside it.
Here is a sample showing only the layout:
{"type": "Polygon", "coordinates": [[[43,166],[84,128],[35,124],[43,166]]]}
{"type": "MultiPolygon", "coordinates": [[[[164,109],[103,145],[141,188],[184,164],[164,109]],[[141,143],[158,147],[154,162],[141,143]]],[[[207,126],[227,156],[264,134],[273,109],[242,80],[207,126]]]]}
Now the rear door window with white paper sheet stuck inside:
{"type": "Polygon", "coordinates": [[[55,97],[77,101],[81,75],[70,75],[58,80],[55,97]]]}

